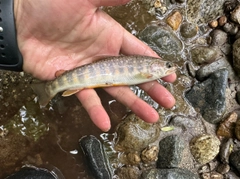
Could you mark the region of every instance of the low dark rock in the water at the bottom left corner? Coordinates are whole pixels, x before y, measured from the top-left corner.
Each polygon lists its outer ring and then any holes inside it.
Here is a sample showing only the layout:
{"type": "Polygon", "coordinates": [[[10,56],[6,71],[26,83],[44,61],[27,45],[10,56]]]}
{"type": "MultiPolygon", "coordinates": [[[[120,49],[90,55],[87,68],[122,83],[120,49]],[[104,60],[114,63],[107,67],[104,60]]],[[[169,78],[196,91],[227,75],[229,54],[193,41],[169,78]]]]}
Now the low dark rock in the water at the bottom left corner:
{"type": "MultiPolygon", "coordinates": [[[[6,179],[56,179],[56,175],[51,174],[46,169],[33,168],[33,167],[24,167],[15,174],[7,177],[6,179]]],[[[59,177],[59,179],[64,179],[59,177]]]]}

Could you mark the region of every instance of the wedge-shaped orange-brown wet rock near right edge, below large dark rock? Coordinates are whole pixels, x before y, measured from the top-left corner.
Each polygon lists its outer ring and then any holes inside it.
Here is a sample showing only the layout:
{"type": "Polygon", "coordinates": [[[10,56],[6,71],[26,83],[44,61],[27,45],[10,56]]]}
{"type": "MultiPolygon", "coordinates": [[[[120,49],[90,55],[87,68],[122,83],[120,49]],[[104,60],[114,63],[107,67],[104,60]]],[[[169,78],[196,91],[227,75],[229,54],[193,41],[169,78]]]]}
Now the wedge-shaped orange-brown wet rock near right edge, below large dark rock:
{"type": "Polygon", "coordinates": [[[237,113],[233,112],[226,118],[217,129],[217,136],[232,138],[234,136],[235,124],[237,121],[237,113]]]}

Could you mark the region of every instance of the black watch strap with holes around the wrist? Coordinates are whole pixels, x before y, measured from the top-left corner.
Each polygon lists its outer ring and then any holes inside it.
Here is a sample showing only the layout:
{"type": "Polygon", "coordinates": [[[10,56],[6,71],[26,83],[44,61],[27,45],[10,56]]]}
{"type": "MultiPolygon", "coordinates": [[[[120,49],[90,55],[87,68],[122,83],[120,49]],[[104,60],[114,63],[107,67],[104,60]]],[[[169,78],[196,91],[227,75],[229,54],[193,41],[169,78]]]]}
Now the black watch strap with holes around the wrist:
{"type": "Polygon", "coordinates": [[[0,69],[22,71],[14,18],[14,0],[0,0],[0,69]]]}

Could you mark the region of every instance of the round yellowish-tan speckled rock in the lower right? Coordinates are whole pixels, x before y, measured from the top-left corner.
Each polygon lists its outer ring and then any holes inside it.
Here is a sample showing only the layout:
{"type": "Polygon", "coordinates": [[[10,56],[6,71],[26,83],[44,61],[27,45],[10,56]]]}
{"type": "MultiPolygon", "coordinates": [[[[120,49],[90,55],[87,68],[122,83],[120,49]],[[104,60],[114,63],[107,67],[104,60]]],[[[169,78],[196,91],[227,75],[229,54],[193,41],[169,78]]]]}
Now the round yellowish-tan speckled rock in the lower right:
{"type": "Polygon", "coordinates": [[[219,146],[219,139],[210,134],[199,135],[190,141],[190,151],[200,164],[212,161],[219,153],[219,146]]]}

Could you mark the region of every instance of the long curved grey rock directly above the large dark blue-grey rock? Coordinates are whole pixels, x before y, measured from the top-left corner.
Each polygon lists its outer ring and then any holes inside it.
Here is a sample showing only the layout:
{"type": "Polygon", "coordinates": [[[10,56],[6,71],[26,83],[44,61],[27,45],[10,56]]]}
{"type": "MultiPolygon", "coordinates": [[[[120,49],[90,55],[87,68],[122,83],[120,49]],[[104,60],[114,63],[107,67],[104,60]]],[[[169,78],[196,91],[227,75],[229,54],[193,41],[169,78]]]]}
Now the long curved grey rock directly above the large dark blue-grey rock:
{"type": "Polygon", "coordinates": [[[203,81],[204,79],[209,77],[209,75],[211,75],[212,73],[214,73],[215,71],[220,70],[220,69],[227,69],[229,76],[234,74],[232,66],[228,62],[228,60],[226,58],[220,58],[219,60],[217,60],[213,63],[202,66],[196,72],[196,78],[199,81],[203,81]]]}

